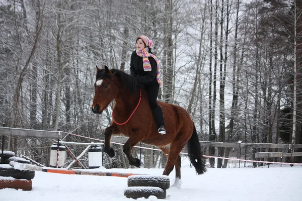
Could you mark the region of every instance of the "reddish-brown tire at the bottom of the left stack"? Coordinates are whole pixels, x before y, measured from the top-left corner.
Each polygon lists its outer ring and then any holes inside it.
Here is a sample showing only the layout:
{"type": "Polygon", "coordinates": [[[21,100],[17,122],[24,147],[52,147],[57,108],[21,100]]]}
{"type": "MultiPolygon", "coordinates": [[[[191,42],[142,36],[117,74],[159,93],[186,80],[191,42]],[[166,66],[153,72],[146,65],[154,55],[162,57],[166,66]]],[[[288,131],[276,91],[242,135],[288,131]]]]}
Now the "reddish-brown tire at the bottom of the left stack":
{"type": "Polygon", "coordinates": [[[32,190],[32,181],[28,179],[3,179],[0,178],[0,189],[14,188],[22,190],[32,190]]]}

